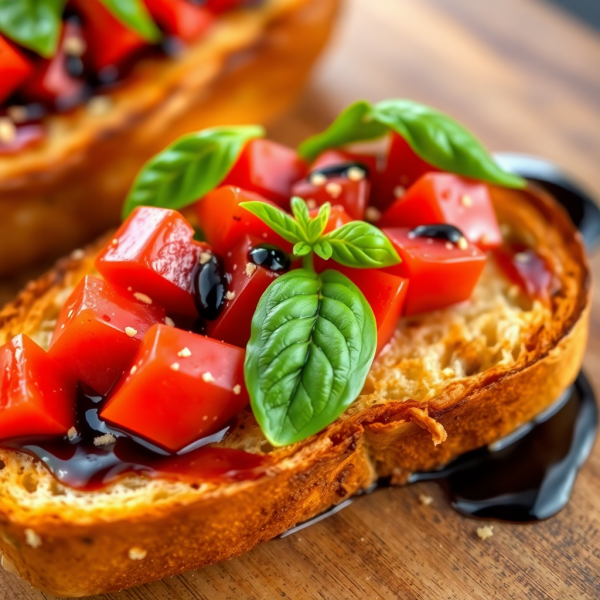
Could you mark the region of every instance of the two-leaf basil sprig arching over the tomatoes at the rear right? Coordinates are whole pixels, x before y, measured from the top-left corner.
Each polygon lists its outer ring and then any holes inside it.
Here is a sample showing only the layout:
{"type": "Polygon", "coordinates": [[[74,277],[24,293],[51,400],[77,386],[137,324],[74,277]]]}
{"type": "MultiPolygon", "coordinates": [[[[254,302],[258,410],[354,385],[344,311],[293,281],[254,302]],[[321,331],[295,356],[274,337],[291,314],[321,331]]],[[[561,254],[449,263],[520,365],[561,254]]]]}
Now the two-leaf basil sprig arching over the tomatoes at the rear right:
{"type": "Polygon", "coordinates": [[[526,185],[522,177],[504,171],[462,125],[410,100],[356,102],[324,132],[305,140],[299,151],[313,160],[327,148],[378,139],[389,131],[401,135],[418,156],[443,171],[505,187],[526,185]]]}

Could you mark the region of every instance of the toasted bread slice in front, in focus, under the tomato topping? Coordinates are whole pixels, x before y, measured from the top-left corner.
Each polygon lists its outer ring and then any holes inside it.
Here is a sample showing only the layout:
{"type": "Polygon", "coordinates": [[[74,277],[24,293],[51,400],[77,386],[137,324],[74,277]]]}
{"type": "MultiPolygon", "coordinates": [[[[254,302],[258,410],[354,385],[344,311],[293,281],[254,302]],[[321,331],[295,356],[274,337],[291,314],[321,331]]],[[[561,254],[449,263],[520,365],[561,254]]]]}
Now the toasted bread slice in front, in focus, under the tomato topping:
{"type": "MultiPolygon", "coordinates": [[[[236,556],[369,486],[403,483],[493,442],[546,409],[582,362],[589,273],[579,234],[545,193],[494,188],[506,236],[553,265],[549,304],[521,295],[492,261],[470,302],[403,319],[357,401],[318,435],[273,449],[252,414],[222,445],[270,453],[256,481],[190,486],[127,476],[100,492],[65,488],[1,451],[4,565],[61,596],[119,590],[236,556]]],[[[32,282],[0,314],[0,344],[47,345],[57,311],[93,271],[95,248],[32,282]]]]}

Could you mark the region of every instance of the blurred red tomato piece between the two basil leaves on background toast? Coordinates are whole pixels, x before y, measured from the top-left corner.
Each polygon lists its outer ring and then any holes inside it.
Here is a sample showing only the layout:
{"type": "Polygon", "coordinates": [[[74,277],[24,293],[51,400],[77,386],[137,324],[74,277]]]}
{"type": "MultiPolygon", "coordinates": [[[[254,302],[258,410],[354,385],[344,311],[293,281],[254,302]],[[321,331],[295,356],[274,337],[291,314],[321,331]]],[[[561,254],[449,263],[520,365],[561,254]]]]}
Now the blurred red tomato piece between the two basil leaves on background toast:
{"type": "Polygon", "coordinates": [[[125,27],[99,0],[71,0],[83,18],[89,59],[96,71],[119,67],[125,60],[148,46],[148,42],[125,27]]]}

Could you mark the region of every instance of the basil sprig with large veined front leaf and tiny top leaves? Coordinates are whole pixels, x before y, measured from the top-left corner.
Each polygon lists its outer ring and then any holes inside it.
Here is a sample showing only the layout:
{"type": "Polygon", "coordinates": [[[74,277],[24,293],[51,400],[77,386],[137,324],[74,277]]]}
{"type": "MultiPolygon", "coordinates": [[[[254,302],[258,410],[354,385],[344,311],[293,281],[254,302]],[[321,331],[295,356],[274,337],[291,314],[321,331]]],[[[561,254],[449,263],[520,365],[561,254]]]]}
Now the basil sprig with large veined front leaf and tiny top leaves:
{"type": "Polygon", "coordinates": [[[330,205],[311,218],[300,198],[295,219],[263,202],[243,206],[303,257],[261,297],[246,349],[245,380],[254,415],[274,446],[318,433],[354,402],[375,357],[377,326],[363,293],[339,271],[315,272],[313,252],[358,267],[400,261],[373,225],[354,221],[323,235],[330,205]]]}

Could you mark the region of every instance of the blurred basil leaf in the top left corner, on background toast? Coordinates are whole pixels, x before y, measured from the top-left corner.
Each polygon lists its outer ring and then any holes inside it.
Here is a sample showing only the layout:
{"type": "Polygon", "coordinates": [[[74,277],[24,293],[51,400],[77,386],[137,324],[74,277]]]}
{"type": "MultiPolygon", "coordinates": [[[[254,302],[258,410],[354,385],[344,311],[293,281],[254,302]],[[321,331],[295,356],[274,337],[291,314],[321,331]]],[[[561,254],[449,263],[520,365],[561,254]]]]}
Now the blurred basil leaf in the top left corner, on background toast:
{"type": "Polygon", "coordinates": [[[0,0],[0,33],[50,58],[56,52],[66,0],[0,0]]]}

